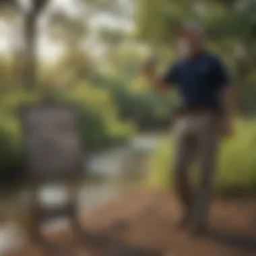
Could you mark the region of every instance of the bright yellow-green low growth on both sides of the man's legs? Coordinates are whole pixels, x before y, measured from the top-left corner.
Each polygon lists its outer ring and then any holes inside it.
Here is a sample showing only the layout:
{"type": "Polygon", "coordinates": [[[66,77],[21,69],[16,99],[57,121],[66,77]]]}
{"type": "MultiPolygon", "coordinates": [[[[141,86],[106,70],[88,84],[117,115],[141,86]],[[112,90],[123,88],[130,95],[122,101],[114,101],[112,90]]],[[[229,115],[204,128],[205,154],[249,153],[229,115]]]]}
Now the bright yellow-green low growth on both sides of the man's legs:
{"type": "MultiPolygon", "coordinates": [[[[171,138],[150,158],[147,185],[172,187],[171,138]]],[[[256,190],[256,121],[238,121],[234,137],[222,141],[216,174],[216,190],[256,190]]]]}

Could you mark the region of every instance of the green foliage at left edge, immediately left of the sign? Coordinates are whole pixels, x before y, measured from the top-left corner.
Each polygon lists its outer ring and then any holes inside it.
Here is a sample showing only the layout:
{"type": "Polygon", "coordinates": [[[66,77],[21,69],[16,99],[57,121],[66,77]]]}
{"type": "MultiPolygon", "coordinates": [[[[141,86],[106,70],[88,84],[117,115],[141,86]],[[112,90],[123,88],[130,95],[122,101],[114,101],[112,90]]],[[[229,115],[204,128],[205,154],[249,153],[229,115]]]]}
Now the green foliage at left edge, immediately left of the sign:
{"type": "Polygon", "coordinates": [[[0,181],[19,181],[24,175],[24,146],[19,109],[31,104],[38,96],[24,92],[7,94],[1,99],[0,110],[0,181]]]}

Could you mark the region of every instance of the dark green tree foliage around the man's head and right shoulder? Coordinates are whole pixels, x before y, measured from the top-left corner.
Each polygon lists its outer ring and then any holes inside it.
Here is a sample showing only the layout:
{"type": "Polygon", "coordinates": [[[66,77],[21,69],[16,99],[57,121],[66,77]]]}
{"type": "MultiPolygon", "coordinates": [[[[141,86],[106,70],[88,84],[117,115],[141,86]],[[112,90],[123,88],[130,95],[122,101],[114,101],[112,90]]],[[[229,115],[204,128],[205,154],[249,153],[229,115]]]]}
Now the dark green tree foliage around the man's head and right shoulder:
{"type": "MultiPolygon", "coordinates": [[[[137,1],[137,36],[156,49],[167,45],[174,51],[177,26],[186,20],[201,23],[207,32],[207,48],[218,53],[228,64],[238,88],[238,109],[255,113],[255,1],[207,0],[137,1]]],[[[168,51],[166,51],[167,53],[168,51]]]]}

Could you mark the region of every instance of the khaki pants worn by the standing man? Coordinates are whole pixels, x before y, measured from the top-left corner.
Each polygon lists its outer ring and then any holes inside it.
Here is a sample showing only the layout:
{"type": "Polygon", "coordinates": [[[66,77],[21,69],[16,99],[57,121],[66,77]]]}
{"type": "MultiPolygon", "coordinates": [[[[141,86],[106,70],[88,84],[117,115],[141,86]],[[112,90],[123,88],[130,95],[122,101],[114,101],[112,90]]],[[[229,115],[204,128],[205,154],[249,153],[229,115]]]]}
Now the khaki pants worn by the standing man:
{"type": "Polygon", "coordinates": [[[178,195],[187,217],[195,225],[207,221],[216,162],[216,117],[212,113],[182,115],[174,125],[174,177],[178,195]],[[194,160],[199,164],[199,182],[191,191],[188,170],[194,160]]]}

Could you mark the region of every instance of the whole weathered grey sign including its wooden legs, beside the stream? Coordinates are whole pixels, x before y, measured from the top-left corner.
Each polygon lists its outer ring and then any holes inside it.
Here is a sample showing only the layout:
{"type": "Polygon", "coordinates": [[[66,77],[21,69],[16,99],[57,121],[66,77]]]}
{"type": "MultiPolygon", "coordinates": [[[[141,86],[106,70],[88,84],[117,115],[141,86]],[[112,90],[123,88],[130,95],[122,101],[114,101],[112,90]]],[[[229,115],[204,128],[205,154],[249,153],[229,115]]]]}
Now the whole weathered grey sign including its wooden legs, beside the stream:
{"type": "Polygon", "coordinates": [[[84,157],[79,110],[67,104],[28,105],[21,108],[20,120],[28,164],[27,176],[32,183],[30,237],[34,241],[42,241],[40,224],[63,215],[80,232],[75,186],[82,174],[84,157]],[[69,199],[62,207],[47,209],[40,205],[38,189],[53,179],[68,184],[69,199]]]}

